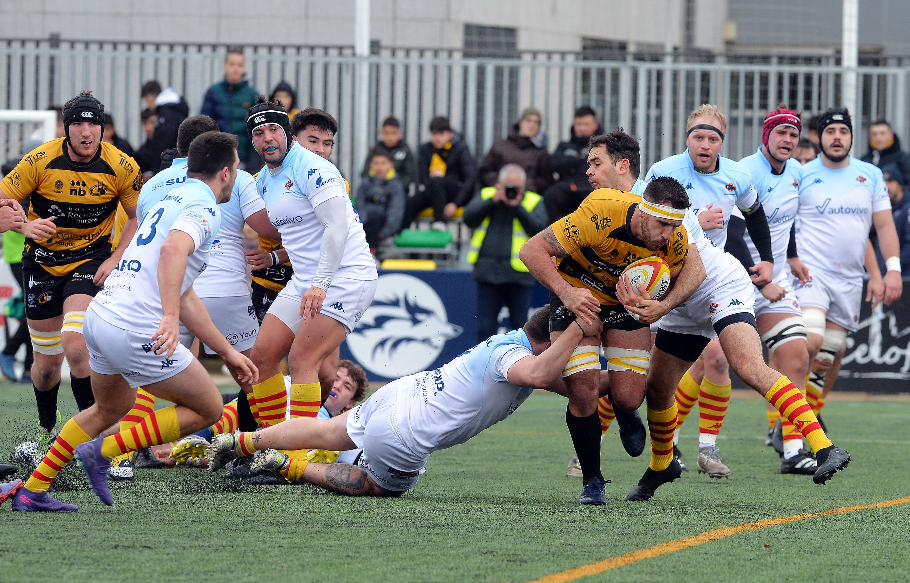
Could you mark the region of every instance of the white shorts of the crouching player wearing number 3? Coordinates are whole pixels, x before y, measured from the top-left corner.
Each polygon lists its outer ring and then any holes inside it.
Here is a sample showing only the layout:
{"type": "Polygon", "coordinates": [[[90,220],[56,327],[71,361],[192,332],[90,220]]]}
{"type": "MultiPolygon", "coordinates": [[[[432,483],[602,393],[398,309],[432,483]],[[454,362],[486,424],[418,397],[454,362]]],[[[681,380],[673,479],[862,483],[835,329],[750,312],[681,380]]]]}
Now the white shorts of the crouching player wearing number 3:
{"type": "Polygon", "coordinates": [[[82,324],[88,347],[88,364],[100,375],[122,375],[130,387],[159,383],[183,372],[193,354],[183,344],[170,358],[152,351],[147,332],[133,332],[106,322],[89,304],[82,324]]]}

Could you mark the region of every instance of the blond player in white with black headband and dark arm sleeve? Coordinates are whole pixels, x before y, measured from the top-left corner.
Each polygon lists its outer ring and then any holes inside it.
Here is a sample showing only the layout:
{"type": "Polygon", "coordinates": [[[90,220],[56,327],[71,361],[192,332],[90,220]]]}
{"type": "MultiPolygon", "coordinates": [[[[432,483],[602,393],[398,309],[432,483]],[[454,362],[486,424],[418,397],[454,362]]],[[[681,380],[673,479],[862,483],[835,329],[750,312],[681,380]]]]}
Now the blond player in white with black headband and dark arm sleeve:
{"type": "MultiPolygon", "coordinates": [[[[685,151],[655,163],[647,179],[672,176],[685,186],[703,231],[721,249],[726,245],[733,213],[741,211],[761,259],[750,266],[752,280],[756,286],[765,286],[773,276],[768,222],[749,171],[720,155],[726,127],[727,118],[717,107],[695,109],[686,121],[685,151]]],[[[717,434],[730,401],[730,369],[718,341],[708,344],[680,389],[682,420],[695,401],[699,402],[698,470],[711,477],[729,477],[730,468],[723,464],[717,448],[717,434]]],[[[674,454],[677,459],[681,457],[675,446],[674,454]]]]}

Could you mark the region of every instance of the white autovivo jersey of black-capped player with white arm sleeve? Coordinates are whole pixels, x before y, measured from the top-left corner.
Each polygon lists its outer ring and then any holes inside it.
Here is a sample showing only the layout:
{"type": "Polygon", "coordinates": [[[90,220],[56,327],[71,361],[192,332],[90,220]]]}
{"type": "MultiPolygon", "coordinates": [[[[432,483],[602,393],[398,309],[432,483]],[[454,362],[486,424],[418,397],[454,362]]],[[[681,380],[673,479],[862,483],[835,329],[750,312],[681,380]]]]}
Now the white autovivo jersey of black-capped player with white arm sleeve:
{"type": "Polygon", "coordinates": [[[377,278],[363,225],[350,204],[338,168],[329,160],[295,142],[282,166],[274,170],[263,166],[256,187],[266,201],[269,220],[281,233],[281,245],[288,250],[294,279],[300,286],[309,286],[316,275],[325,231],[313,208],[335,196],[344,197],[348,217],[348,241],[335,276],[361,281],[377,278]]]}

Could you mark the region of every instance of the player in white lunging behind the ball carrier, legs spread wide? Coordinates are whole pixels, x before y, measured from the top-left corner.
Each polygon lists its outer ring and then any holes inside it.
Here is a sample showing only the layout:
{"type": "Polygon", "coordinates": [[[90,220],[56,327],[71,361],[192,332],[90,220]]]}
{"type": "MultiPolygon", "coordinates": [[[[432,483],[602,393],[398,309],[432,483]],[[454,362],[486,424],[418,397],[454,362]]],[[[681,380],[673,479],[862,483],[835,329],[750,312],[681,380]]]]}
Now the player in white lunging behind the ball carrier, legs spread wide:
{"type": "MultiPolygon", "coordinates": [[[[633,193],[644,192],[646,186],[625,168],[605,176],[601,184],[627,188],[633,193]]],[[[733,372],[800,428],[818,458],[814,481],[824,484],[835,471],[847,466],[850,455],[834,447],[824,435],[812,408],[790,379],[764,364],[762,340],[755,327],[753,282],[748,272],[735,257],[713,243],[691,209],[685,213],[682,225],[692,233],[707,274],[690,297],[659,318],[660,302],[648,299],[641,286],[636,294],[624,277],[616,287],[617,297],[627,310],[638,315],[642,322],[658,322],[646,392],[651,463],[626,499],[647,500],[662,484],[682,474],[679,461],[672,455],[678,411],[674,393],[682,375],[715,336],[733,372]]]]}

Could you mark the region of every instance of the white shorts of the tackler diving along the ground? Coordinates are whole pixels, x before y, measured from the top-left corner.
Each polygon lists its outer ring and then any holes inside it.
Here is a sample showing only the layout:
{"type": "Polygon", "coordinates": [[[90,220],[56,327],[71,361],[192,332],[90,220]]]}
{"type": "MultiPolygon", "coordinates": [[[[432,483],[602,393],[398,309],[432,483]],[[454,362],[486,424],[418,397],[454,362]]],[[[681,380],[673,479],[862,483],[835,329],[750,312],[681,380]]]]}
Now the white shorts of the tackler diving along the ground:
{"type": "Polygon", "coordinates": [[[348,437],[363,449],[358,464],[381,488],[404,492],[424,473],[427,457],[413,453],[402,441],[396,420],[398,389],[413,377],[393,380],[348,413],[348,437]]]}

